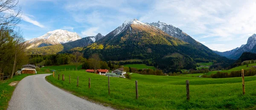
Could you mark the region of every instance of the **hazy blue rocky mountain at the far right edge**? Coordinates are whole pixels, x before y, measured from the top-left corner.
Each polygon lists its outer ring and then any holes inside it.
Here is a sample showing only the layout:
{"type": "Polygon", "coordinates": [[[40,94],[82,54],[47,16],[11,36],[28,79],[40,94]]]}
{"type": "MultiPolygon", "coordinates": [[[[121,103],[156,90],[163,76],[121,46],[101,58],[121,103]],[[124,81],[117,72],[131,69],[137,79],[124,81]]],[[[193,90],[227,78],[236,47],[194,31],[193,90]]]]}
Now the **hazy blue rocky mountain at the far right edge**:
{"type": "Polygon", "coordinates": [[[218,52],[215,51],[218,55],[230,58],[230,59],[238,59],[243,52],[253,52],[256,53],[256,34],[250,36],[247,40],[247,44],[241,45],[241,47],[237,47],[236,49],[226,51],[226,52],[218,52]]]}

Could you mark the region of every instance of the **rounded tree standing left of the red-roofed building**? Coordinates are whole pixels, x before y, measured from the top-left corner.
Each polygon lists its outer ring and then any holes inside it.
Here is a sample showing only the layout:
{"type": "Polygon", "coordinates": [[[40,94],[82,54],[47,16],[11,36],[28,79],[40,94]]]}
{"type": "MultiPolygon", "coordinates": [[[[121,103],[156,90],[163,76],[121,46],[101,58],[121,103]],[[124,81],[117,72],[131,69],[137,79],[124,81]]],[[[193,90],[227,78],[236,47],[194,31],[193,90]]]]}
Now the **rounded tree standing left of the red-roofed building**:
{"type": "Polygon", "coordinates": [[[70,64],[73,64],[76,66],[76,71],[77,71],[77,67],[79,65],[81,65],[81,63],[83,62],[84,58],[82,56],[83,54],[80,52],[73,52],[73,54],[71,55],[70,58],[70,64]]]}

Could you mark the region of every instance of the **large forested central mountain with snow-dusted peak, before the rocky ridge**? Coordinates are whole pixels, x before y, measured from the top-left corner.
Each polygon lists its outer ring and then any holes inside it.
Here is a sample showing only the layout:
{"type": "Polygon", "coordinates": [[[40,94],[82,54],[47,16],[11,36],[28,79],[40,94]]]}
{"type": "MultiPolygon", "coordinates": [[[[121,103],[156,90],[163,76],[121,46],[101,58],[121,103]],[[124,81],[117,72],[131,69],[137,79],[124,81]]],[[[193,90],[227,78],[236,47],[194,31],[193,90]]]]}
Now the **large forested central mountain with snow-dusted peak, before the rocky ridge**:
{"type": "Polygon", "coordinates": [[[104,38],[87,46],[84,57],[98,53],[103,60],[149,59],[156,62],[159,68],[168,69],[166,71],[195,68],[194,58],[227,63],[227,58],[206,48],[184,42],[155,26],[134,19],[124,22],[104,38]]]}

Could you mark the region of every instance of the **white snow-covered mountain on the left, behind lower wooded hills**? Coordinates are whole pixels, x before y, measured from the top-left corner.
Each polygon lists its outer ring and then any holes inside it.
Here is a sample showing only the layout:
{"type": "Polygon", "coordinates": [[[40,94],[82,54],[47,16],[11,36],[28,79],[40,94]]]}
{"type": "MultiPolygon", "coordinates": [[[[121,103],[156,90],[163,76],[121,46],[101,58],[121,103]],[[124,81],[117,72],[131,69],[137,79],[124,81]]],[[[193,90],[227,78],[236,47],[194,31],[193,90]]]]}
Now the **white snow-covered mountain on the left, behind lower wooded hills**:
{"type": "Polygon", "coordinates": [[[69,32],[67,30],[53,30],[47,32],[43,36],[26,41],[26,43],[30,44],[30,46],[27,47],[27,49],[29,49],[33,47],[64,44],[78,39],[81,39],[81,37],[77,33],[69,32]]]}

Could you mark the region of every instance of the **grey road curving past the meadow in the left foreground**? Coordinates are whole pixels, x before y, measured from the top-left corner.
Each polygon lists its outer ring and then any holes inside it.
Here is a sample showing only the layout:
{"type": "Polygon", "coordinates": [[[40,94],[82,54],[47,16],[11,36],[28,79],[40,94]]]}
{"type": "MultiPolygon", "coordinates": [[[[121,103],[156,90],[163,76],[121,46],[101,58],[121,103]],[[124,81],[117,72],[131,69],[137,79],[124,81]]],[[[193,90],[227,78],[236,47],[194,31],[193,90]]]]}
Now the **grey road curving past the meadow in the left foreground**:
{"type": "Polygon", "coordinates": [[[37,74],[21,80],[7,110],[113,110],[81,99],[47,82],[50,74],[37,74]]]}

